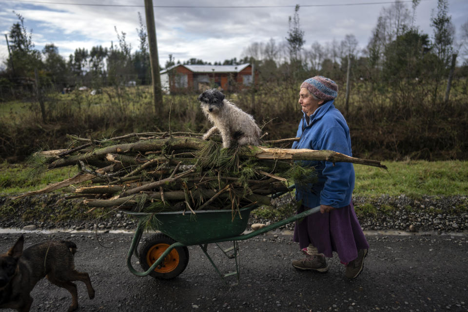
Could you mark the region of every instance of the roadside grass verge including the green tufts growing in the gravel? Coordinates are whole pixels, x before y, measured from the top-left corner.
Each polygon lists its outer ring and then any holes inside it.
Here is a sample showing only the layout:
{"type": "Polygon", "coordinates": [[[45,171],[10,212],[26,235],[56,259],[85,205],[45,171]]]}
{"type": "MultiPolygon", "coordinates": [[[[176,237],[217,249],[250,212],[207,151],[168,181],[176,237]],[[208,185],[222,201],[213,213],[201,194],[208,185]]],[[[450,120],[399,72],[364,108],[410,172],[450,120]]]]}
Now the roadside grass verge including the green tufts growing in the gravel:
{"type": "MultiPolygon", "coordinates": [[[[388,166],[388,171],[363,165],[355,165],[356,183],[355,196],[369,197],[369,200],[363,203],[355,203],[356,214],[374,215],[383,213],[392,214],[396,208],[394,205],[381,205],[373,202],[373,199],[381,195],[396,197],[406,195],[413,201],[420,200],[423,195],[428,196],[455,196],[468,194],[468,162],[467,161],[405,161],[405,162],[384,162],[388,166]],[[377,208],[379,206],[379,208],[377,208]]],[[[20,193],[35,191],[44,188],[49,183],[59,182],[70,176],[74,176],[77,167],[57,168],[45,172],[39,177],[30,175],[31,168],[25,164],[0,164],[0,195],[17,195],[20,193]]],[[[55,194],[60,194],[60,190],[55,194]]],[[[34,201],[35,199],[30,199],[34,201]]],[[[57,201],[57,195],[48,200],[57,201]]],[[[467,211],[467,202],[460,207],[452,207],[458,212],[467,211]]],[[[63,201],[59,205],[59,211],[51,211],[49,205],[31,202],[31,206],[36,207],[34,212],[23,211],[22,218],[27,220],[52,220],[58,222],[61,220],[85,218],[93,219],[101,215],[102,212],[96,211],[91,215],[85,212],[86,208],[80,200],[63,201]]],[[[50,202],[52,204],[52,202],[50,202]]],[[[57,205],[53,205],[56,207],[57,205]]],[[[418,206],[411,206],[408,209],[418,209],[418,206]]],[[[21,207],[23,208],[23,207],[21,207]]],[[[2,215],[9,215],[5,210],[21,210],[16,206],[3,206],[2,215]]],[[[430,210],[431,208],[428,207],[430,210]]],[[[433,208],[437,209],[437,208],[433,208]]],[[[254,210],[253,214],[260,218],[273,219],[283,218],[294,214],[295,207],[286,205],[281,208],[260,207],[254,210]]],[[[11,213],[11,212],[10,212],[11,213]]]]}

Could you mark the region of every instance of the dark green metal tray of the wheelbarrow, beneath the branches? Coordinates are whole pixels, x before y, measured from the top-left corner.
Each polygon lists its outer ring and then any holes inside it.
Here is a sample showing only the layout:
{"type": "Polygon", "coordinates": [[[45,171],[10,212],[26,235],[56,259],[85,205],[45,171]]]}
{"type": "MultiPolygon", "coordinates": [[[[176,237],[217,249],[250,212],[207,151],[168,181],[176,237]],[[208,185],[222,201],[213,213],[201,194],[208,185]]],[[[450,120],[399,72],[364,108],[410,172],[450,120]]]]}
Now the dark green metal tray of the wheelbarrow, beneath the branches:
{"type": "MultiPolygon", "coordinates": [[[[257,206],[239,210],[202,210],[161,212],[154,217],[154,227],[185,246],[215,242],[241,234],[247,228],[249,216],[257,206]]],[[[144,216],[151,213],[130,213],[144,216]]]]}

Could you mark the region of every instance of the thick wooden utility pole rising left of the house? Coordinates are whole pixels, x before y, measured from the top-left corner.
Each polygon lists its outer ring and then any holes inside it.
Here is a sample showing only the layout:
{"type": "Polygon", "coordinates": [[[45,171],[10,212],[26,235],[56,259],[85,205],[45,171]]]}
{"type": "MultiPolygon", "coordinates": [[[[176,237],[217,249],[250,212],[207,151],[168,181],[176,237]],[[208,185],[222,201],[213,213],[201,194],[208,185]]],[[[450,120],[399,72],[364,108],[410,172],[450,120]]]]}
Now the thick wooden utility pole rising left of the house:
{"type": "Polygon", "coordinates": [[[155,111],[162,115],[161,77],[159,76],[159,60],[157,56],[155,13],[153,0],[145,0],[146,28],[148,31],[148,45],[150,48],[151,78],[153,80],[153,96],[155,111]]]}

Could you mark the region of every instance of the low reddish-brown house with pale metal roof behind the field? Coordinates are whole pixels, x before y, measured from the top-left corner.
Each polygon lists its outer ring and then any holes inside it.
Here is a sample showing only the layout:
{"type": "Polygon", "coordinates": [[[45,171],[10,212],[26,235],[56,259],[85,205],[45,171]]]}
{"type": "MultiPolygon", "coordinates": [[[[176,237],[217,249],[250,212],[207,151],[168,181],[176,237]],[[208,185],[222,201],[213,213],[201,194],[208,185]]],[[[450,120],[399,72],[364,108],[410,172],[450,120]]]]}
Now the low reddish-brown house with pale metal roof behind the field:
{"type": "MultiPolygon", "coordinates": [[[[238,91],[252,84],[252,65],[182,65],[160,72],[161,87],[166,92],[203,91],[218,87],[238,91]]],[[[256,74],[257,75],[257,74],[256,74]]]]}

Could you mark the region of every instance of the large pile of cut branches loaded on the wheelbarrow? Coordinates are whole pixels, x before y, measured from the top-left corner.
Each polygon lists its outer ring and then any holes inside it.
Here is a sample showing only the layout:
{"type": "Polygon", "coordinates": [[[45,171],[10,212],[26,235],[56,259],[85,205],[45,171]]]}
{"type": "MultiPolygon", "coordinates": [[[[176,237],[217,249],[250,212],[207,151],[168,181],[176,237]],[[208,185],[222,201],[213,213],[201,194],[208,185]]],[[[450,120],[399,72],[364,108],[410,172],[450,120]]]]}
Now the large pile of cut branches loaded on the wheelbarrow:
{"type": "MultiPolygon", "coordinates": [[[[91,208],[132,211],[238,209],[269,204],[289,191],[292,180],[313,182],[313,168],[296,160],[347,161],[383,167],[378,161],[332,151],[274,148],[296,138],[263,141],[264,146],[221,148],[194,133],[139,133],[96,140],[69,136],[69,147],[35,154],[39,171],[76,166],[71,178],[18,197],[62,189],[91,208]]],[[[18,198],[17,197],[17,198],[18,198]]]]}

